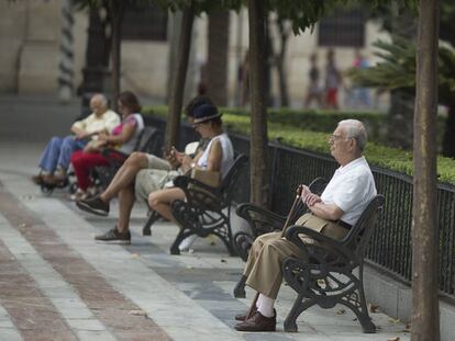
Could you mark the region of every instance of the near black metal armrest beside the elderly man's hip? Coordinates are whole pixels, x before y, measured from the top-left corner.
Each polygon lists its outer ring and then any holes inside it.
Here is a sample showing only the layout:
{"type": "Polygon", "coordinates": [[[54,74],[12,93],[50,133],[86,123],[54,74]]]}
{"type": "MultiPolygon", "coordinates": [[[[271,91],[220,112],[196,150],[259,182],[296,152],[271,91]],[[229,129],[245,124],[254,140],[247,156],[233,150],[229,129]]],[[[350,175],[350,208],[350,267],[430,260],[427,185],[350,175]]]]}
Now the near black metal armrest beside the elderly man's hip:
{"type": "Polygon", "coordinates": [[[286,239],[293,242],[299,249],[303,250],[304,253],[309,253],[310,261],[321,261],[321,257],[324,258],[323,262],[336,263],[337,265],[355,268],[358,264],[356,254],[347,249],[343,241],[335,240],[328,236],[324,236],[313,229],[304,226],[290,226],[285,232],[286,239]],[[314,243],[304,243],[299,235],[304,235],[313,239],[314,243]],[[323,252],[322,252],[323,250],[323,252]],[[325,253],[325,254],[323,254],[325,253]]]}

